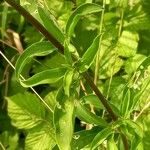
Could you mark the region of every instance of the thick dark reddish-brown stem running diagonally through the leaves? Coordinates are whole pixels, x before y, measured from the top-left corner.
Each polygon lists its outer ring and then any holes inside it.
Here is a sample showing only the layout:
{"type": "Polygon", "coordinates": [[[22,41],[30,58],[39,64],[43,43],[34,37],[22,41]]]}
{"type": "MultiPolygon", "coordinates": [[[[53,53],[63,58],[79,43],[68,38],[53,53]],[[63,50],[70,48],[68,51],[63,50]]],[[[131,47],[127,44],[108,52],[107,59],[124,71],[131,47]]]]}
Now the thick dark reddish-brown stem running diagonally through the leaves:
{"type": "MultiPolygon", "coordinates": [[[[5,0],[8,4],[14,7],[20,14],[22,14],[37,30],[39,30],[56,48],[58,48],[60,53],[64,53],[64,47],[59,41],[54,38],[44,27],[41,25],[30,13],[28,13],[22,6],[16,4],[13,0],[5,0]]],[[[102,104],[104,105],[106,111],[109,113],[111,118],[115,121],[117,120],[117,116],[109,106],[106,98],[97,88],[97,86],[92,81],[91,77],[88,73],[84,73],[84,78],[86,79],[87,83],[90,85],[91,89],[95,92],[97,97],[100,99],[102,104]]]]}

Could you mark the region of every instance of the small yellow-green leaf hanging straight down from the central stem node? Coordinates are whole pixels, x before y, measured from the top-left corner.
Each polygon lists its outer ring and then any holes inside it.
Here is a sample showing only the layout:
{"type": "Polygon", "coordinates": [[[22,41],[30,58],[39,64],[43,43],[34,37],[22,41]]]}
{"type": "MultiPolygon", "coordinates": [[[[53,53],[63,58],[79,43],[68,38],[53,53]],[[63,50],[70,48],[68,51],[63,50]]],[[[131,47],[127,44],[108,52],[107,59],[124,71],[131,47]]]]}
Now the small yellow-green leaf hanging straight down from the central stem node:
{"type": "Polygon", "coordinates": [[[73,73],[74,73],[74,70],[66,71],[66,74],[65,74],[64,79],[63,79],[63,88],[64,88],[64,91],[65,91],[65,94],[68,97],[70,96],[70,86],[71,86],[71,83],[72,83],[73,73]]]}

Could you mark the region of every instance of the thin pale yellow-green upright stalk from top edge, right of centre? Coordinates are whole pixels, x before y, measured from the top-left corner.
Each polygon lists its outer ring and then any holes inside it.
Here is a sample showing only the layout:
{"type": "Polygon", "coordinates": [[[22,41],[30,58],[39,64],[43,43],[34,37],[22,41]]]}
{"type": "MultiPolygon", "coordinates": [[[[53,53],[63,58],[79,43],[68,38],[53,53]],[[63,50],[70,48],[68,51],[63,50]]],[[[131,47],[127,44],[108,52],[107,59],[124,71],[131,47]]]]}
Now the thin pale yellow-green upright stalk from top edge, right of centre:
{"type": "Polygon", "coordinates": [[[99,63],[100,63],[100,50],[101,50],[101,41],[102,41],[102,29],[103,29],[103,21],[104,21],[104,13],[105,13],[105,3],[106,0],[103,0],[103,10],[102,10],[102,14],[101,14],[101,20],[100,20],[100,28],[99,28],[99,32],[100,32],[100,40],[99,40],[99,50],[97,52],[97,56],[96,56],[96,65],[95,65],[95,74],[94,74],[94,83],[95,85],[97,85],[97,80],[98,80],[98,71],[99,71],[99,63]]]}

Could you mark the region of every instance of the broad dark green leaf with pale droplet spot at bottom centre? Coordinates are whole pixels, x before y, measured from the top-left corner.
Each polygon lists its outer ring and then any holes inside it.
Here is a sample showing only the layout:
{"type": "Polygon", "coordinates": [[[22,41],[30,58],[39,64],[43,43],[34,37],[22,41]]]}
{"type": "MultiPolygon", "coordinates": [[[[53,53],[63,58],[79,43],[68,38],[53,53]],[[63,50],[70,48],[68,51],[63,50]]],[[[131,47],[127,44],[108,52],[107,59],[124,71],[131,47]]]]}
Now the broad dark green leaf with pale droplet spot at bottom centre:
{"type": "Polygon", "coordinates": [[[72,150],[77,150],[77,148],[83,149],[85,146],[90,145],[91,141],[94,139],[96,134],[99,132],[99,127],[93,127],[91,130],[82,130],[76,132],[73,135],[72,150]]]}

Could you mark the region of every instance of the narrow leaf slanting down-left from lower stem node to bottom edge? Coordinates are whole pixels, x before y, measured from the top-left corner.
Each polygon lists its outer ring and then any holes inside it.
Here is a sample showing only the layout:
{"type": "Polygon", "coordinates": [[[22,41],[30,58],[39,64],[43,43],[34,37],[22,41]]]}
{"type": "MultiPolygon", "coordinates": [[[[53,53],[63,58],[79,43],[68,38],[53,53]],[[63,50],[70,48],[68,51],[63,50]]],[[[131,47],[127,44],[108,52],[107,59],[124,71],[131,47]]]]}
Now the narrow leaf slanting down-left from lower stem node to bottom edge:
{"type": "Polygon", "coordinates": [[[99,146],[110,134],[113,133],[113,130],[110,127],[104,128],[101,130],[93,139],[91,143],[91,150],[94,150],[99,146]]]}

